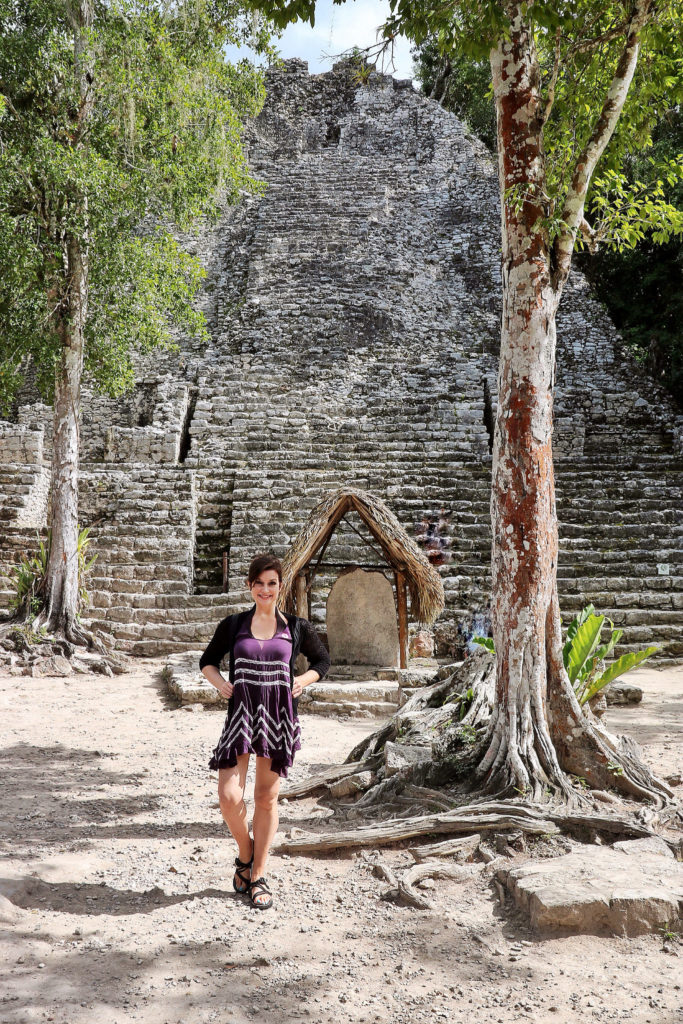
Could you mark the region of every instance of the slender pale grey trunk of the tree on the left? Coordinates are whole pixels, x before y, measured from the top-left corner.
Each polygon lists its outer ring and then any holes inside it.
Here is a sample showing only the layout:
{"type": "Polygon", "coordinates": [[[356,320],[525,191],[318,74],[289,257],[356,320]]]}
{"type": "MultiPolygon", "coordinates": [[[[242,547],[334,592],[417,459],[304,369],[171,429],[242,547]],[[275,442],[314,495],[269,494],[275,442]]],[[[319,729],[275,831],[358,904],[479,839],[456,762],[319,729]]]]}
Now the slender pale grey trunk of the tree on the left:
{"type": "MultiPolygon", "coordinates": [[[[74,145],[87,144],[88,121],[93,109],[92,68],[88,56],[88,32],[92,26],[91,0],[68,5],[74,32],[74,73],[80,105],[75,118],[74,145]]],[[[88,643],[77,621],[79,603],[78,471],[79,419],[85,324],[88,314],[88,205],[87,196],[76,186],[74,222],[65,238],[66,282],[59,318],[60,353],[55,371],[51,544],[44,587],[45,605],[37,627],[65,636],[72,643],[88,643]]]]}

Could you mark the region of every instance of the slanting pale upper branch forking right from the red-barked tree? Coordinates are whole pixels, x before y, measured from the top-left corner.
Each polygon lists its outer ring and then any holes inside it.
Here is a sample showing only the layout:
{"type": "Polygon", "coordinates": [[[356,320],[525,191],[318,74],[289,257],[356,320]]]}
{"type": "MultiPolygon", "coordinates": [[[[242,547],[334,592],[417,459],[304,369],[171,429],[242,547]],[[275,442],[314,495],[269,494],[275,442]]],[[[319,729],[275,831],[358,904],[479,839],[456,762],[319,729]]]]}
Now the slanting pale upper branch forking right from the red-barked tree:
{"type": "Polygon", "coordinates": [[[640,51],[640,33],[653,14],[653,0],[638,0],[631,17],[624,49],[616,65],[602,110],[595,123],[591,137],[580,154],[571,177],[571,183],[564,201],[561,220],[566,227],[558,236],[554,245],[553,285],[559,291],[569,274],[571,254],[584,218],[586,195],[591,183],[591,177],[600,157],[605,152],[616,122],[620,119],[624,103],[629,93],[631,82],[638,62],[640,51]]]}

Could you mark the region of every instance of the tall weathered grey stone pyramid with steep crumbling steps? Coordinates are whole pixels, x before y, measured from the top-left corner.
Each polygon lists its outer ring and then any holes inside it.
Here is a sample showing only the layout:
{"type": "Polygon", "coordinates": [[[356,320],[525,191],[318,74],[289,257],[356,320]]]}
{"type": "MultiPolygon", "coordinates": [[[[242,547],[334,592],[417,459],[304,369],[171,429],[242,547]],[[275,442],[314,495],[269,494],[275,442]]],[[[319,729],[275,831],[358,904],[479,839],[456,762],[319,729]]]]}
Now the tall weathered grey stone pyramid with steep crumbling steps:
{"type": "MultiPolygon", "coordinates": [[[[263,194],[194,243],[210,343],[140,360],[123,400],[86,389],[91,620],[138,654],[201,646],[245,604],[250,557],[284,554],[322,496],[354,483],[432,550],[436,535],[447,656],[488,600],[496,166],[410,81],[289,60],[267,86],[248,133],[263,194]]],[[[592,600],[625,628],[622,649],[682,656],[681,418],[579,272],[558,317],[555,422],[563,614],[592,600]]],[[[0,422],[0,568],[45,525],[49,454],[50,411],[28,388],[0,422]]],[[[342,530],[326,560],[367,558],[342,530]]],[[[332,579],[313,593],[321,626],[332,579]]]]}

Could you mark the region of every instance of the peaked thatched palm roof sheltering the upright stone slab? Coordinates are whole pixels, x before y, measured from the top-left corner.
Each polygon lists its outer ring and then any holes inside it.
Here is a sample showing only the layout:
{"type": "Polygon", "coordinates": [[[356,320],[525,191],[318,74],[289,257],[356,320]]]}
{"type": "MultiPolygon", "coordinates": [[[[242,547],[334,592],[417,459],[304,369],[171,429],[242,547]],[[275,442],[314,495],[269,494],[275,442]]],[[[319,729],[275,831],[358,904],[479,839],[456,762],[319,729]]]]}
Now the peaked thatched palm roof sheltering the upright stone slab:
{"type": "Polygon", "coordinates": [[[315,506],[283,559],[281,604],[291,603],[298,573],[330,539],[346,513],[351,511],[358,513],[382,548],[389,565],[404,574],[413,616],[421,623],[433,623],[444,604],[440,575],[383,501],[367,490],[348,486],[332,492],[315,506]]]}

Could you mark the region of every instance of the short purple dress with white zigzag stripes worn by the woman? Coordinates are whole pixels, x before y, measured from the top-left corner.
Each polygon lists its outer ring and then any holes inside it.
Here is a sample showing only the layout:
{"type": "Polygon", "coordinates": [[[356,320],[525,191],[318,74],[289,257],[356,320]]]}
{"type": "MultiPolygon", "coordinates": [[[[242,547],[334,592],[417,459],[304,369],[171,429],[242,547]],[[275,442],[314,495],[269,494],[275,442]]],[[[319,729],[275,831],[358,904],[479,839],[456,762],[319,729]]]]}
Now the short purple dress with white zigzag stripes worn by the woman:
{"type": "Polygon", "coordinates": [[[299,719],[292,705],[292,635],[278,623],[270,640],[256,640],[249,618],[234,638],[234,689],[223,731],[209,767],[232,768],[240,754],[271,758],[283,778],[301,749],[299,719]]]}

